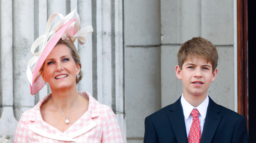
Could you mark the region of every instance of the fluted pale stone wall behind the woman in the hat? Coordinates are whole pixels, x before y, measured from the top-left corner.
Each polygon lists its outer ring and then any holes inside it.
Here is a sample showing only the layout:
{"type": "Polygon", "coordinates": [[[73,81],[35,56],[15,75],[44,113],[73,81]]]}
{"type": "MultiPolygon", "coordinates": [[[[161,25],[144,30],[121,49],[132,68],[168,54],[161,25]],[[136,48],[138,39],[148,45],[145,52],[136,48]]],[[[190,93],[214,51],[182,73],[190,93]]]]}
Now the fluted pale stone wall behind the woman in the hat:
{"type": "Polygon", "coordinates": [[[124,91],[124,44],[122,0],[1,0],[0,1],[0,142],[11,142],[22,113],[50,93],[44,87],[30,95],[26,77],[33,41],[45,33],[53,13],[66,15],[77,9],[81,28],[92,25],[87,43],[75,45],[81,58],[83,79],[78,90],[86,90],[100,103],[112,107],[126,138],[124,91]]]}

